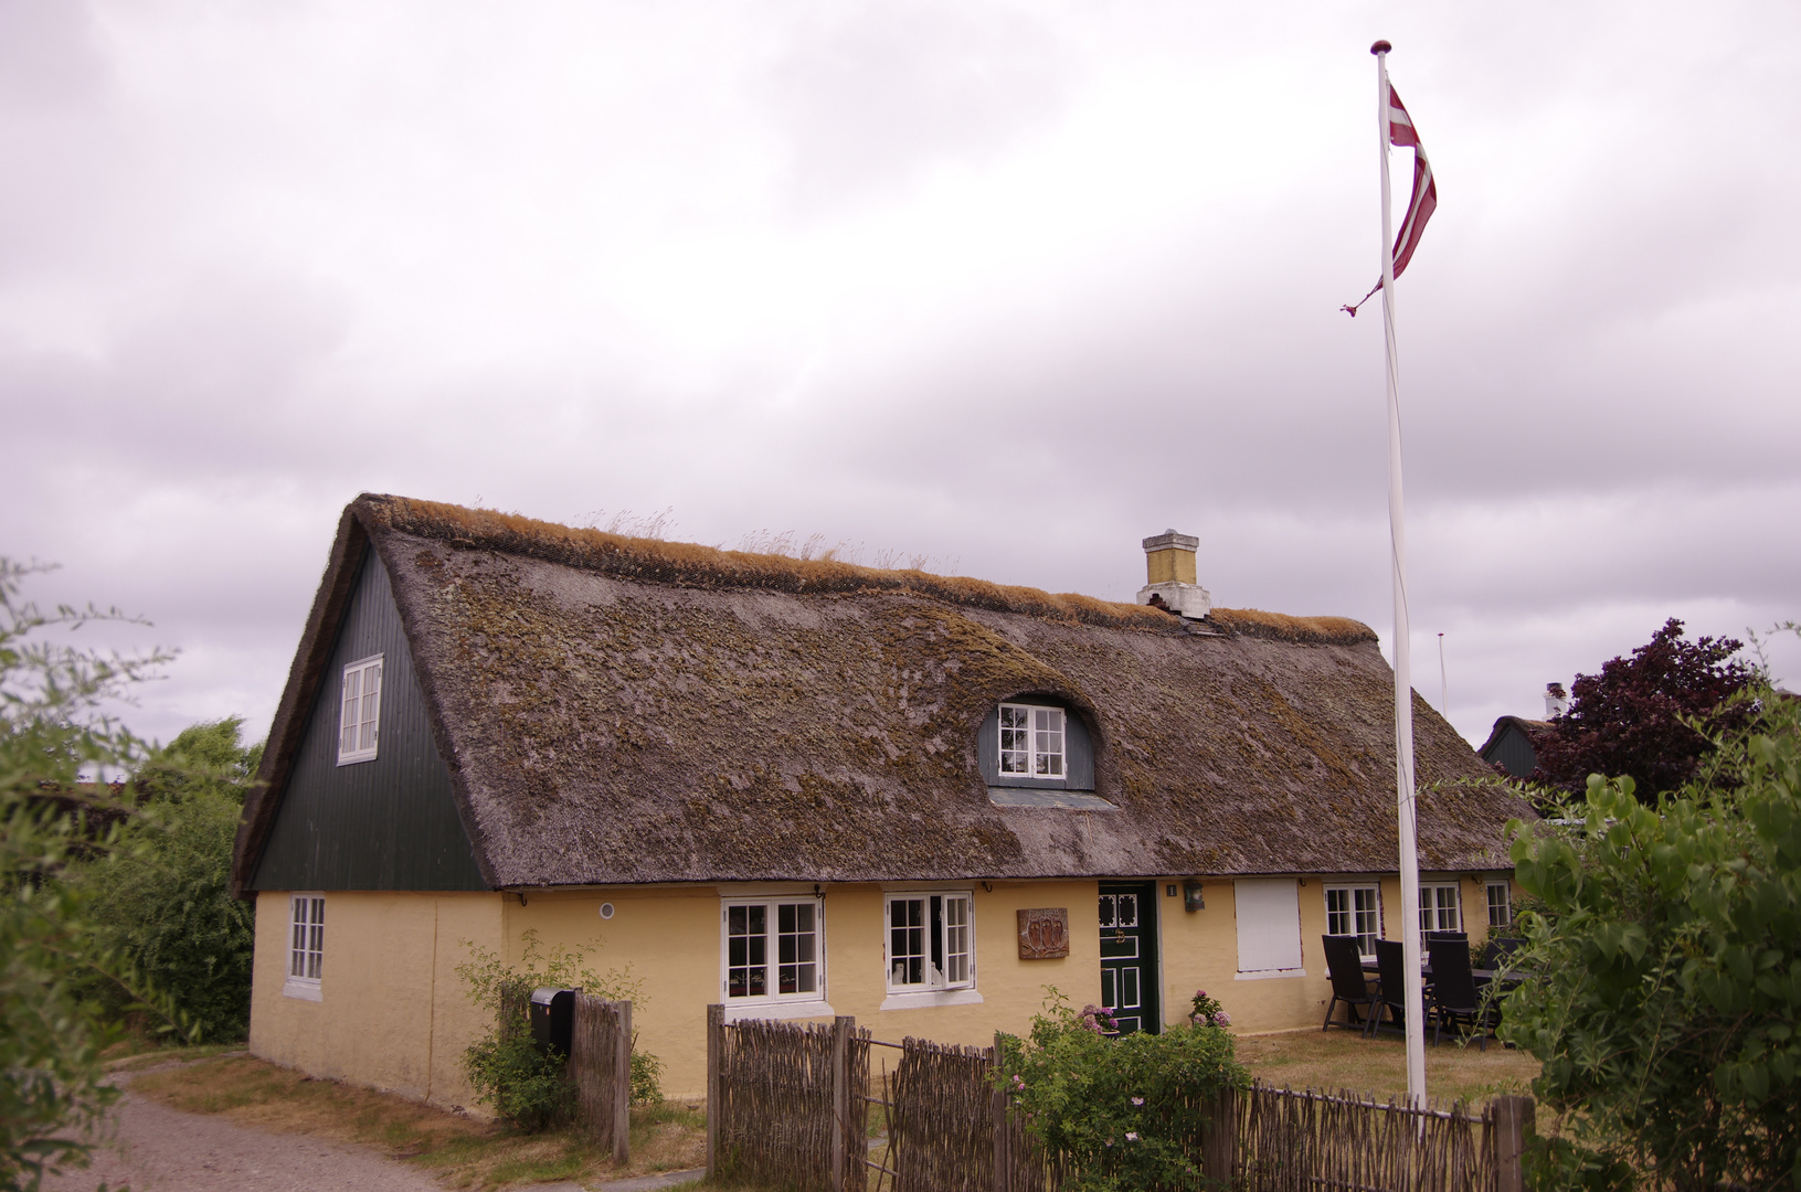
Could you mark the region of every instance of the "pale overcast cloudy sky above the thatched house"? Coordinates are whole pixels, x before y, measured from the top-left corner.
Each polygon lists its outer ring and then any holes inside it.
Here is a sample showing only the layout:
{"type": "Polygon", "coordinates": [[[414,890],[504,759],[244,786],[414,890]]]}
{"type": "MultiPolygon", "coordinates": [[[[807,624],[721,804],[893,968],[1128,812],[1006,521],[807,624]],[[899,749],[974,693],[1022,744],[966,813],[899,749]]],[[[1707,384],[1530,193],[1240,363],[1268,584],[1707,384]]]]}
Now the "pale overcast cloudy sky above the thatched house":
{"type": "Polygon", "coordinates": [[[1113,600],[1178,528],[1387,641],[1378,36],[1419,690],[1801,618],[1776,0],[0,0],[0,553],[162,738],[267,731],[364,490],[1113,600]]]}

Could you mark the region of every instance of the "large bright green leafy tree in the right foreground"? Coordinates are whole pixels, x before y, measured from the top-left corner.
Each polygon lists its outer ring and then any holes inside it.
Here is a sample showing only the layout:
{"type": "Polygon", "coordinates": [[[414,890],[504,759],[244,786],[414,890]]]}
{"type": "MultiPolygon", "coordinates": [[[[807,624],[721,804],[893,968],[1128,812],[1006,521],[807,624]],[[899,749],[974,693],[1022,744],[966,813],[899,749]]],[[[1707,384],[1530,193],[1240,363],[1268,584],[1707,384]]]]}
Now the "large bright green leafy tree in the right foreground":
{"type": "Polygon", "coordinates": [[[1801,702],[1727,711],[1747,726],[1655,808],[1597,774],[1565,826],[1507,828],[1538,976],[1502,1037],[1558,1115],[1540,1187],[1801,1187],[1801,702]]]}

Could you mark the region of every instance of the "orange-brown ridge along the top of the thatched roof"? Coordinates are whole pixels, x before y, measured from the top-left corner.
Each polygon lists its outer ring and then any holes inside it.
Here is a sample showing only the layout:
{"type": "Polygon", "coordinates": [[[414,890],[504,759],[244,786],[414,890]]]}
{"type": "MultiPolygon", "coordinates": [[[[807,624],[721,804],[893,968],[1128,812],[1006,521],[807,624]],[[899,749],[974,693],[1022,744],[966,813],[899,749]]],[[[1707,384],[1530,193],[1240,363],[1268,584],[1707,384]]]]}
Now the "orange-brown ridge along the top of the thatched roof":
{"type": "MultiPolygon", "coordinates": [[[[636,538],[605,529],[562,526],[520,513],[472,510],[439,501],[362,493],[360,515],[376,526],[418,538],[436,538],[463,549],[493,549],[542,558],[585,571],[686,587],[751,587],[783,592],[852,594],[908,592],[953,605],[1019,612],[1055,621],[1178,634],[1185,621],[1149,605],[1129,605],[1081,592],[994,583],[971,576],[942,576],[919,569],[884,569],[837,558],[792,558],[753,551],[726,551],[693,542],[636,538]]],[[[1356,645],[1376,634],[1349,618],[1297,618],[1257,609],[1214,609],[1208,623],[1246,637],[1293,643],[1356,645]]]]}

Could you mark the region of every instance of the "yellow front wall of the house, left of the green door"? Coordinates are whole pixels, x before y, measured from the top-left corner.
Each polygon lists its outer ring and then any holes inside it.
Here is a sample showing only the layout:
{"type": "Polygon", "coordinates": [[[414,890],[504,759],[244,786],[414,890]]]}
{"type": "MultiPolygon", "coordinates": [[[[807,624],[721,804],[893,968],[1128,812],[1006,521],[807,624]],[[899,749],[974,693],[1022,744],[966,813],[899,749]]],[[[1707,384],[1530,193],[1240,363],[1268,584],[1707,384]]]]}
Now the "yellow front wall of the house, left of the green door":
{"type": "MultiPolygon", "coordinates": [[[[919,886],[919,889],[947,886],[919,886]]],[[[783,888],[785,889],[785,888],[783,888]]],[[[792,886],[810,893],[812,886],[792,886]]],[[[891,889],[900,889],[893,886],[891,889]]],[[[1099,996],[1100,927],[1095,882],[989,882],[949,886],[973,889],[978,1005],[882,1010],[882,888],[873,884],[825,886],[825,999],[877,1039],[899,1043],[920,1035],[940,1043],[987,1044],[996,1030],[1023,1034],[1057,985],[1075,1005],[1099,996]],[[1070,954],[1055,960],[1019,960],[1016,913],[1061,906],[1070,911],[1070,954]]],[[[663,1061],[663,1091],[701,1098],[706,1091],[706,1007],[720,992],[720,888],[591,889],[526,895],[526,906],[508,902],[508,958],[517,960],[522,938],[535,929],[542,947],[600,944],[589,967],[596,974],[623,969],[639,980],[643,998],[632,1007],[638,1046],[663,1061]],[[611,920],[600,918],[611,902],[611,920]]],[[[726,888],[726,897],[738,891],[726,888]]]]}

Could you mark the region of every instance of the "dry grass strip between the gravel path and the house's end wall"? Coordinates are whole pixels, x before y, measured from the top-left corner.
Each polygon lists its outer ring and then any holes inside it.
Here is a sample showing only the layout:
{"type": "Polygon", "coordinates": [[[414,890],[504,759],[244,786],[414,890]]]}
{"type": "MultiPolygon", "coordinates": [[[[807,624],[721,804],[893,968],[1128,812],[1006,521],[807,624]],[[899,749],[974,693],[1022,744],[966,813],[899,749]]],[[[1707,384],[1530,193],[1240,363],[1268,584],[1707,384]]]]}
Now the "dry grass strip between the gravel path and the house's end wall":
{"type": "Polygon", "coordinates": [[[519,1134],[504,1124],[421,1106],[337,1080],[315,1080],[243,1053],[139,1055],[128,1068],[176,1061],[144,1071],[131,1091],[186,1113],[218,1113],[238,1125],[317,1134],[378,1147],[436,1174],[452,1188],[517,1183],[629,1179],[706,1163],[706,1115],[677,1104],[632,1109],[632,1161],[614,1169],[573,1131],[519,1134]]]}

